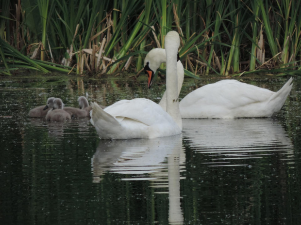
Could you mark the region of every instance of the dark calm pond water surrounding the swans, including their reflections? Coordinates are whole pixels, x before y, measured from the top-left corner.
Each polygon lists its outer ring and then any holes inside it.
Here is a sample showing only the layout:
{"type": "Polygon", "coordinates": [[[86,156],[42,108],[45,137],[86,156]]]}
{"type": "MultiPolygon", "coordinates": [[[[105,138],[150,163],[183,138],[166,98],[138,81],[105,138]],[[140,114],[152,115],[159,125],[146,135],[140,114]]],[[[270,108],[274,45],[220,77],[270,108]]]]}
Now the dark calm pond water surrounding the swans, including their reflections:
{"type": "MultiPolygon", "coordinates": [[[[273,91],[289,77],[248,79],[273,91]]],[[[185,79],[180,97],[217,78],[185,79]]],[[[146,77],[0,79],[0,224],[297,225],[301,221],[301,79],[275,118],[183,120],[183,134],[100,140],[87,118],[28,117],[60,97],[159,102],[146,77]]]]}

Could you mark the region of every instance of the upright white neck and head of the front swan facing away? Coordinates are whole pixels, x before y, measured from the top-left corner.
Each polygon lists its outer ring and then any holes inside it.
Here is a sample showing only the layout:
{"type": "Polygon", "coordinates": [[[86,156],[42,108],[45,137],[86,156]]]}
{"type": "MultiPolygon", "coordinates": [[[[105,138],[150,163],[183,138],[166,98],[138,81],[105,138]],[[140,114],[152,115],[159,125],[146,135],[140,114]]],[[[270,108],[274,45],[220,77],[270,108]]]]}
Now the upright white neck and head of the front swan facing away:
{"type": "Polygon", "coordinates": [[[178,98],[177,56],[180,37],[176,31],[169,31],[165,37],[166,50],[166,99],[167,113],[182,129],[178,98]]]}

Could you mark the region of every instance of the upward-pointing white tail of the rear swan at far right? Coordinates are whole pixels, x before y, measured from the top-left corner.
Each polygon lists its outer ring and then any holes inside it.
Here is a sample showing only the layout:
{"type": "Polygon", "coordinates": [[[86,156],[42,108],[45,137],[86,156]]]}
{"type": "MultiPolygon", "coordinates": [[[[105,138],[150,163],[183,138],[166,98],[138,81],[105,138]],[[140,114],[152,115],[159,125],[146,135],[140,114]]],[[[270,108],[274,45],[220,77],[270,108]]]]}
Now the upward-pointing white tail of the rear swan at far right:
{"type": "Polygon", "coordinates": [[[293,77],[291,77],[280,90],[278,90],[269,98],[268,107],[271,107],[273,109],[272,116],[274,116],[284,105],[289,92],[292,90],[292,81],[293,77]]]}

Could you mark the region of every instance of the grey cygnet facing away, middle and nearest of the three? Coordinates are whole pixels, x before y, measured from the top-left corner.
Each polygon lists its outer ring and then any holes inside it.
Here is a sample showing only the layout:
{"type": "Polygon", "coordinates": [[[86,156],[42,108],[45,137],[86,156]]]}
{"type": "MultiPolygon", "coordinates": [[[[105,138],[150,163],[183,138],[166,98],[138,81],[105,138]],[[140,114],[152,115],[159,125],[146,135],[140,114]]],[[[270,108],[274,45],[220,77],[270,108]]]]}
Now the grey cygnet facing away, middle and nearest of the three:
{"type": "Polygon", "coordinates": [[[70,120],[71,116],[64,110],[63,101],[60,98],[53,100],[53,109],[46,115],[47,121],[65,121],[70,120]]]}

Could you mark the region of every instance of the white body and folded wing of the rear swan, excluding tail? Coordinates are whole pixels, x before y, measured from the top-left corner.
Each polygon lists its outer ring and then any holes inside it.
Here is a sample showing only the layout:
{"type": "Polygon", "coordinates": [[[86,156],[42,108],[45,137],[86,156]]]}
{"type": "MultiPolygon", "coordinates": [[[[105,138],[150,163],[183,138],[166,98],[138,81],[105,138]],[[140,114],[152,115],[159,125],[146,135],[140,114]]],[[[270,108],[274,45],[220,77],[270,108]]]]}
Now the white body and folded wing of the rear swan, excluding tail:
{"type": "Polygon", "coordinates": [[[180,102],[183,118],[265,116],[265,103],[275,92],[237,80],[221,80],[192,91],[180,102]],[[258,105],[259,104],[259,105],[258,105]]]}

